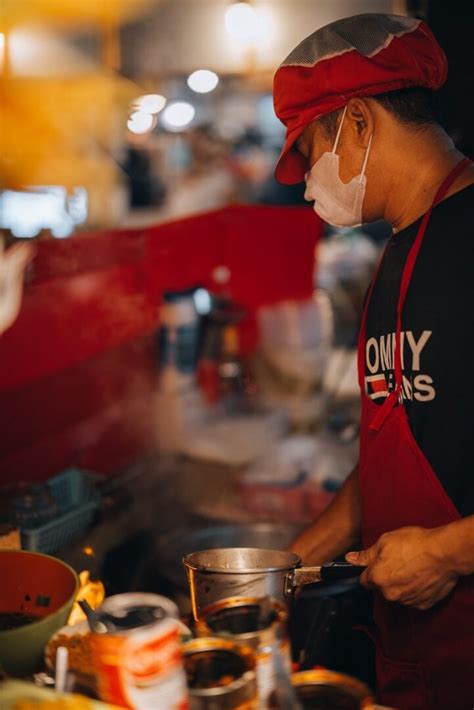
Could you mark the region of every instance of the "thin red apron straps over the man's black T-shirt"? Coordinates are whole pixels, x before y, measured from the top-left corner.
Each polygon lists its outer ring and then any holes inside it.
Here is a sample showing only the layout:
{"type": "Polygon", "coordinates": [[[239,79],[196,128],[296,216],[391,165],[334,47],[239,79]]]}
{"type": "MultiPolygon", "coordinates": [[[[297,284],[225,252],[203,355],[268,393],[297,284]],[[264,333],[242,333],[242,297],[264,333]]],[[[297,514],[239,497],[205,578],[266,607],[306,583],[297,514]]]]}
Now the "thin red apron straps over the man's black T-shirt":
{"type": "MultiPolygon", "coordinates": [[[[407,296],[408,292],[408,287],[411,282],[411,277],[413,275],[413,270],[415,268],[416,260],[418,258],[418,254],[421,249],[421,245],[423,243],[423,238],[426,233],[426,228],[428,226],[428,222],[431,217],[431,213],[433,211],[433,208],[442,201],[442,199],[445,197],[446,193],[448,192],[449,188],[453,184],[453,182],[456,180],[456,178],[466,169],[468,165],[470,165],[471,160],[469,158],[463,158],[449,173],[449,175],[443,180],[441,185],[439,186],[436,195],[434,197],[434,200],[431,204],[431,207],[429,210],[425,213],[423,216],[422,222],[420,224],[420,227],[418,229],[418,233],[416,235],[415,241],[413,243],[413,246],[411,247],[407,260],[405,262],[405,266],[403,269],[403,274],[402,274],[402,280],[401,280],[401,285],[400,285],[400,293],[398,297],[398,304],[397,304],[397,328],[396,328],[396,333],[395,333],[395,353],[394,353],[394,359],[395,359],[395,388],[394,390],[388,395],[386,398],[385,402],[382,404],[382,406],[379,408],[377,414],[373,418],[372,422],[369,424],[370,429],[373,429],[375,431],[378,431],[389,413],[392,411],[393,407],[397,404],[403,403],[403,370],[402,370],[402,347],[401,347],[401,333],[402,333],[402,313],[403,313],[403,306],[405,305],[405,299],[407,296]]],[[[384,252],[385,256],[385,252],[384,252]]],[[[380,266],[379,266],[380,269],[380,266]]],[[[375,275],[374,280],[372,281],[372,284],[370,286],[368,298],[365,304],[365,309],[364,309],[364,315],[363,315],[363,323],[361,326],[361,336],[363,340],[361,341],[362,343],[362,348],[365,346],[365,334],[366,334],[366,320],[367,320],[367,310],[368,310],[368,304],[369,304],[369,299],[372,295],[372,291],[374,288],[375,280],[378,276],[379,269],[377,269],[377,273],[375,275]]],[[[361,384],[361,388],[364,387],[364,382],[365,382],[365,357],[360,357],[359,358],[359,381],[361,384]]],[[[362,390],[363,391],[363,390],[362,390]]]]}

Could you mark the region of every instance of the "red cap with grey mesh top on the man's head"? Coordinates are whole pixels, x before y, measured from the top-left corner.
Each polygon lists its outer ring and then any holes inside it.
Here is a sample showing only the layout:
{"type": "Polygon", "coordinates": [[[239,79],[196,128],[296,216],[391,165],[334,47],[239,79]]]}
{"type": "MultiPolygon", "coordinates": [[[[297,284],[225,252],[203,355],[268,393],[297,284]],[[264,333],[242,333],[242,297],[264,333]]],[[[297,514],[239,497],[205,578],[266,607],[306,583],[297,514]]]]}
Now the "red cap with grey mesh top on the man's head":
{"type": "Polygon", "coordinates": [[[288,185],[304,180],[308,165],[294,143],[315,119],[355,96],[409,86],[439,89],[447,73],[430,28],[413,17],[354,15],[313,32],[275,74],[275,113],[286,126],[275,177],[288,185]]]}

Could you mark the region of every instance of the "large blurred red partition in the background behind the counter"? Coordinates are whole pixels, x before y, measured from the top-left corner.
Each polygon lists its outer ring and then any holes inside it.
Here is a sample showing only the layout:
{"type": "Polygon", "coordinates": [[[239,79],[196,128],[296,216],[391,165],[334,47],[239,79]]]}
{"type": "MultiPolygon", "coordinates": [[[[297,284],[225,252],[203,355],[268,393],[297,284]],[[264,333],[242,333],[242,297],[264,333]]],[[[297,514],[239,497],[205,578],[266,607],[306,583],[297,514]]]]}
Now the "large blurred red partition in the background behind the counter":
{"type": "Polygon", "coordinates": [[[321,232],[310,207],[236,205],[39,242],[19,318],[0,338],[0,485],[70,464],[111,473],[152,449],[162,293],[203,284],[240,301],[248,353],[260,305],[311,295],[321,232]]]}

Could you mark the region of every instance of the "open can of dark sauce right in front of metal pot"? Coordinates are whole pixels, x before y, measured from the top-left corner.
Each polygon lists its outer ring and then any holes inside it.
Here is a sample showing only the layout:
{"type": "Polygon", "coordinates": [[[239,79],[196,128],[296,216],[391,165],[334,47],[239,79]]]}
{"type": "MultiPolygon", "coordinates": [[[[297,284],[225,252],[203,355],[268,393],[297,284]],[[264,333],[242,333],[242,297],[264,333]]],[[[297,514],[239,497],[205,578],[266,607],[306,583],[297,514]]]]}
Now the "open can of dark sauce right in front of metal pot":
{"type": "Polygon", "coordinates": [[[216,602],[203,611],[202,617],[196,626],[199,636],[230,637],[254,650],[258,697],[265,707],[275,683],[275,653],[280,655],[284,670],[291,674],[286,606],[271,599],[234,597],[216,602]]]}

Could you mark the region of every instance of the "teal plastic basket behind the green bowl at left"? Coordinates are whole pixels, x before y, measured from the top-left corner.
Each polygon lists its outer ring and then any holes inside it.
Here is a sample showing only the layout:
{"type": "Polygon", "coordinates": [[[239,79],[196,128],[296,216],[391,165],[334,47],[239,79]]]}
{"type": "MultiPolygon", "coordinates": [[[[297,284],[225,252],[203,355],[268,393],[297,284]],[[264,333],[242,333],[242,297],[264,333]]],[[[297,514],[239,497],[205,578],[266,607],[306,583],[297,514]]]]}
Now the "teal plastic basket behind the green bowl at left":
{"type": "Polygon", "coordinates": [[[36,528],[22,528],[21,543],[25,550],[55,552],[88,528],[94,519],[100,497],[90,474],[70,468],[50,478],[48,487],[60,515],[36,528]]]}

